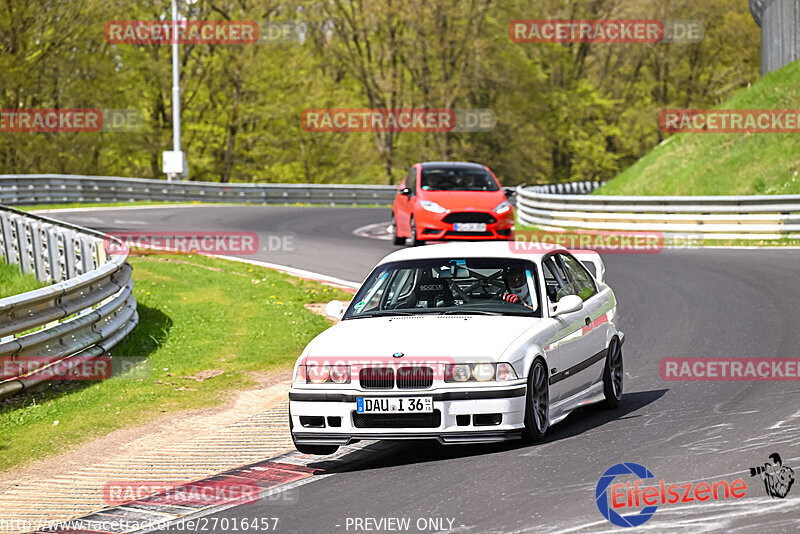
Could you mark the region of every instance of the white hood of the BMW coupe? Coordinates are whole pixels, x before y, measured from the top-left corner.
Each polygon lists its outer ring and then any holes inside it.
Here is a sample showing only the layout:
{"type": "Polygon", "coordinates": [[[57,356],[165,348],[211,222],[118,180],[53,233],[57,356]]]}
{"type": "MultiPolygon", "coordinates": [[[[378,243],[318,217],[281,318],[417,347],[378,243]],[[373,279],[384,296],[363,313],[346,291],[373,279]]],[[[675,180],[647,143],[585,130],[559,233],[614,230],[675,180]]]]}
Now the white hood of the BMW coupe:
{"type": "Polygon", "coordinates": [[[431,315],[348,319],[332,326],[309,345],[311,359],[358,358],[403,361],[498,361],[541,319],[513,316],[431,315]]]}

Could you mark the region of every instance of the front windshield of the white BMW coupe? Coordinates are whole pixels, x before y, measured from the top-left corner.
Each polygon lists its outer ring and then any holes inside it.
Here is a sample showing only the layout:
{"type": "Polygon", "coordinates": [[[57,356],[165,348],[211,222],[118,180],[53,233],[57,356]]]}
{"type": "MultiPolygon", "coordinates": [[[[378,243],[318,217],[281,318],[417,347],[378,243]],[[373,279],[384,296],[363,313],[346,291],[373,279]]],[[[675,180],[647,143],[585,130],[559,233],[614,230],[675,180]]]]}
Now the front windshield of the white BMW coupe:
{"type": "Polygon", "coordinates": [[[417,314],[541,317],[536,266],[504,258],[387,263],[367,278],[343,318],[417,314]]]}

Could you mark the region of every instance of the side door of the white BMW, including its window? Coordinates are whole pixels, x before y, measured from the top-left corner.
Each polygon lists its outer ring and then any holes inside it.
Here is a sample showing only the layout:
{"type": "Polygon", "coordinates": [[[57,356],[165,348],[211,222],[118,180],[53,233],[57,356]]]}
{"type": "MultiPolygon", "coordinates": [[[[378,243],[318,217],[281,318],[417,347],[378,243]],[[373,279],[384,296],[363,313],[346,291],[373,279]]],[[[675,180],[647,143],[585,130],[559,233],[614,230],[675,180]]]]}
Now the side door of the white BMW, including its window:
{"type": "MultiPolygon", "coordinates": [[[[569,274],[561,254],[552,253],[542,260],[545,302],[556,331],[545,345],[550,367],[550,396],[553,401],[569,398],[586,389],[594,380],[589,359],[594,354],[593,340],[588,336],[587,309],[554,316],[555,304],[567,295],[579,295],[580,287],[569,274]]],[[[591,323],[591,321],[589,321],[591,323]]]]}

